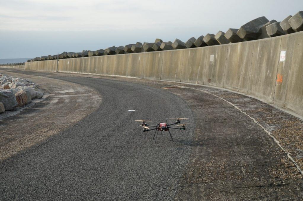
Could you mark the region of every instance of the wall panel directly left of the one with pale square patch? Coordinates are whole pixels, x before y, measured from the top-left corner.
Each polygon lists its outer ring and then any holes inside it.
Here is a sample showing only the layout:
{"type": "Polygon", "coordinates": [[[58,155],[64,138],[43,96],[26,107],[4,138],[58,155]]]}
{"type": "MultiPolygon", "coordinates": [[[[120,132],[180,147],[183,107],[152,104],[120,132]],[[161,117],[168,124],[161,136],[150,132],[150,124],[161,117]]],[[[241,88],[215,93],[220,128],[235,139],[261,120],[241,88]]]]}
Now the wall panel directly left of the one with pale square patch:
{"type": "Polygon", "coordinates": [[[181,82],[203,84],[207,48],[185,49],[181,70],[181,82]],[[202,75],[203,76],[198,76],[202,75]]]}

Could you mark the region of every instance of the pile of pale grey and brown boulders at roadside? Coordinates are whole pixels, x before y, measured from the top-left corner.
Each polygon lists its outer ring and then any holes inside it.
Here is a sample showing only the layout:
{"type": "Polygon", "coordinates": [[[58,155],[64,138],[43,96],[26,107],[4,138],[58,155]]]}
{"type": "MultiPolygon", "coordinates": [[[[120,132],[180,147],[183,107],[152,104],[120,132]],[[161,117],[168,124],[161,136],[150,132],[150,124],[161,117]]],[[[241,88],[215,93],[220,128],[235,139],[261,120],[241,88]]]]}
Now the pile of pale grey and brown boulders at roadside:
{"type": "Polygon", "coordinates": [[[0,113],[22,107],[43,95],[32,81],[0,73],[0,113]]]}

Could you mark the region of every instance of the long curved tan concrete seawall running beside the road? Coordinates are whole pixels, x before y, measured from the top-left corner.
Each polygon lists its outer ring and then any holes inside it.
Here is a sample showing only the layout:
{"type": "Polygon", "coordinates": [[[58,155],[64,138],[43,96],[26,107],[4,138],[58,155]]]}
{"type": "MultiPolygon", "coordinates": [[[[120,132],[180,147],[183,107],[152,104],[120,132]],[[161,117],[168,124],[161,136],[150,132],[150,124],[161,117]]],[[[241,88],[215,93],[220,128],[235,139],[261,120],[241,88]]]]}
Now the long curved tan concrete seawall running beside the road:
{"type": "MultiPolygon", "coordinates": [[[[26,62],[25,69],[56,71],[57,61],[26,62]]],[[[303,115],[303,32],[210,47],[62,59],[58,71],[216,86],[303,115]],[[286,51],[285,60],[281,51],[286,51]]]]}

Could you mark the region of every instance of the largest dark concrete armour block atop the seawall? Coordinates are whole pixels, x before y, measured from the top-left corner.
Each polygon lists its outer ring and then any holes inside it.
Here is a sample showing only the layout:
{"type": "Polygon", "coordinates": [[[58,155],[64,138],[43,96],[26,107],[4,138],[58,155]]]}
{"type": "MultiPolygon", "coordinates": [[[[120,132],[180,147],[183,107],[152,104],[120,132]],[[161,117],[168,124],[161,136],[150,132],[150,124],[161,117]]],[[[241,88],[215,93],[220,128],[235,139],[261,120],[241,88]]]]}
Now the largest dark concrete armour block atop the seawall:
{"type": "Polygon", "coordinates": [[[263,17],[256,18],[242,25],[237,34],[240,38],[246,41],[256,40],[260,35],[261,27],[268,22],[268,19],[263,17]]]}

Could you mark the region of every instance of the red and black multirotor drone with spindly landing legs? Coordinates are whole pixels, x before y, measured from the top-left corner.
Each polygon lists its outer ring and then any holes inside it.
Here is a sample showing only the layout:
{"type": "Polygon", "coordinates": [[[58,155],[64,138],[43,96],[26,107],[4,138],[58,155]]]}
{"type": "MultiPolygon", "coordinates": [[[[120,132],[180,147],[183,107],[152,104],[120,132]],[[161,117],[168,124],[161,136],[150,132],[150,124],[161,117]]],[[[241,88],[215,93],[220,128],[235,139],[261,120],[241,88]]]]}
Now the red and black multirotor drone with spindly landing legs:
{"type": "MultiPolygon", "coordinates": [[[[143,127],[143,132],[148,132],[148,131],[155,130],[155,134],[154,134],[153,140],[156,137],[156,139],[155,139],[155,143],[156,143],[159,131],[161,131],[161,134],[163,134],[163,131],[168,131],[169,135],[171,136],[171,132],[169,131],[169,129],[186,130],[185,125],[186,124],[191,124],[191,123],[181,124],[180,120],[183,120],[183,119],[188,119],[188,118],[166,118],[165,119],[166,120],[165,123],[157,123],[157,125],[148,125],[145,122],[151,122],[151,121],[146,121],[146,120],[135,120],[135,122],[141,122],[140,126],[143,127]],[[167,120],[170,120],[170,119],[175,119],[176,122],[173,123],[173,124],[168,124],[167,120]],[[176,125],[176,124],[180,124],[180,125],[176,125]],[[171,127],[171,125],[176,125],[176,126],[175,127],[171,127]],[[155,127],[155,128],[149,128],[148,126],[155,127]],[[176,127],[178,127],[178,128],[176,128],[176,127]]],[[[174,142],[174,139],[172,138],[172,136],[171,136],[171,140],[174,142]]]]}

